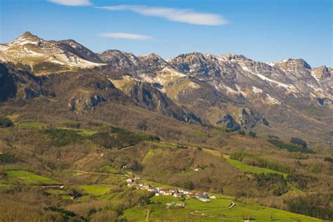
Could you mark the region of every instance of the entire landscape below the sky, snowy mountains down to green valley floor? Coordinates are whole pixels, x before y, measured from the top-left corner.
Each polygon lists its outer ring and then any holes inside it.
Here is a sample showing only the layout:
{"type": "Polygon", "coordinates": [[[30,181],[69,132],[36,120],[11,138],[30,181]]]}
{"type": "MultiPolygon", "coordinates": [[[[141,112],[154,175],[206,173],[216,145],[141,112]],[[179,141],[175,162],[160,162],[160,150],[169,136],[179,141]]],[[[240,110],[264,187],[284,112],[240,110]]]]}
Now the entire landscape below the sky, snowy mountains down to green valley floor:
{"type": "Polygon", "coordinates": [[[0,221],[333,220],[332,100],[303,59],[25,32],[0,45],[0,221]]]}

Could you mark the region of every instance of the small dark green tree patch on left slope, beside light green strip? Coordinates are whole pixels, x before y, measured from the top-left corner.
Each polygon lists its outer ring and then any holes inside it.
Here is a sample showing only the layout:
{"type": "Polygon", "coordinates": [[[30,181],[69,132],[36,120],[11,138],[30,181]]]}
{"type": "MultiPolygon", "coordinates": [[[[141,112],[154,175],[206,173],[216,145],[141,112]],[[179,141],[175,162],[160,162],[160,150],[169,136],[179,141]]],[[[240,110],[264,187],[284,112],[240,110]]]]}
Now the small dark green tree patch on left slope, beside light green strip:
{"type": "Polygon", "coordinates": [[[51,139],[51,144],[58,147],[77,143],[83,139],[76,131],[67,129],[49,128],[44,129],[43,132],[51,139]]]}

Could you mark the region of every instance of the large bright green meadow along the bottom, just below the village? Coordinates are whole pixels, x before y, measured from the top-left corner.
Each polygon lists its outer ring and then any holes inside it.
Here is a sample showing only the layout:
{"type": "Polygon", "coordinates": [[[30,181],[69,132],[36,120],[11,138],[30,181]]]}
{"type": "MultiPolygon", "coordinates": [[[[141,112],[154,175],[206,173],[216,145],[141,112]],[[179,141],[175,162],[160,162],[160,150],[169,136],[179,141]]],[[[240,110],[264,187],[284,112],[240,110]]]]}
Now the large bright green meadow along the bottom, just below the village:
{"type": "Polygon", "coordinates": [[[185,208],[172,207],[166,209],[167,202],[182,202],[180,198],[172,196],[155,196],[150,198],[148,207],[133,207],[124,211],[124,217],[129,221],[145,221],[147,210],[149,209],[149,219],[172,221],[175,215],[178,218],[191,221],[321,221],[320,219],[293,214],[288,211],[262,207],[257,204],[244,204],[235,201],[235,206],[231,206],[232,201],[216,199],[211,202],[201,202],[200,200],[185,200],[185,208]]]}

